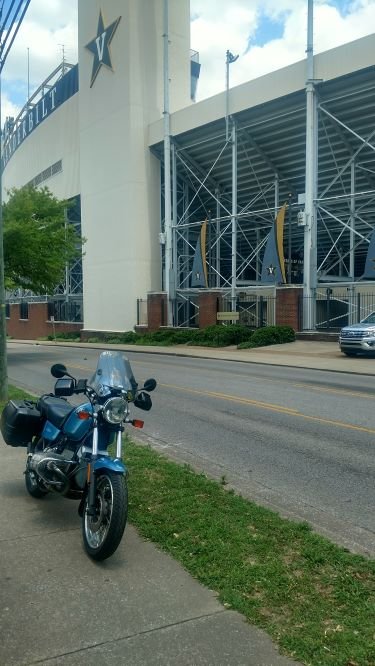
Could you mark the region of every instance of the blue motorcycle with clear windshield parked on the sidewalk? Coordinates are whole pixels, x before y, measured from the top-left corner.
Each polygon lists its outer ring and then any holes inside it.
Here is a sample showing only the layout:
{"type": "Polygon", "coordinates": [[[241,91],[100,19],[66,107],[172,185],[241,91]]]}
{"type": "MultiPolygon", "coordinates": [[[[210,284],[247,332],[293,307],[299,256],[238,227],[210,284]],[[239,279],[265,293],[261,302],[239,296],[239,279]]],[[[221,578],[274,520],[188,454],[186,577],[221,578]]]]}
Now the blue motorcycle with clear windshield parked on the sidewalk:
{"type": "Polygon", "coordinates": [[[150,410],[156,381],[138,388],[129,360],[114,351],[100,354],[90,381],[75,379],[61,363],[51,374],[57,380],[53,394],[7,403],[1,433],[9,446],[27,447],[24,474],[31,497],[57,493],[79,500],[84,548],[94,560],[105,560],[117,549],[128,514],[124,426],[144,423],[130,418],[129,404],[150,410]],[[73,395],[84,395],[84,402],[71,404],[67,397],[73,395]]]}

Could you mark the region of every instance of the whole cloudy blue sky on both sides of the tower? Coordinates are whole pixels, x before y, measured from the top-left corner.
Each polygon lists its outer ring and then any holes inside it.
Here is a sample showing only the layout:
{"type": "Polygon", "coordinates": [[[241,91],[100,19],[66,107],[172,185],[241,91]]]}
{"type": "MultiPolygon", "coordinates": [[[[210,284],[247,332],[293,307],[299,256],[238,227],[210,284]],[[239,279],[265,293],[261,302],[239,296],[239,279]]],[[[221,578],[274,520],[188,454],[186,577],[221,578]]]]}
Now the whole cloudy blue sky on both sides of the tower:
{"type": "MultiPolygon", "coordinates": [[[[77,7],[78,0],[31,0],[2,73],[2,122],[63,55],[77,62],[77,7]]],[[[191,48],[201,63],[197,101],[225,89],[227,50],[239,56],[231,87],[305,58],[307,0],[190,0],[190,10],[191,48]]],[[[315,0],[315,53],[373,32],[375,0],[315,0]]]]}

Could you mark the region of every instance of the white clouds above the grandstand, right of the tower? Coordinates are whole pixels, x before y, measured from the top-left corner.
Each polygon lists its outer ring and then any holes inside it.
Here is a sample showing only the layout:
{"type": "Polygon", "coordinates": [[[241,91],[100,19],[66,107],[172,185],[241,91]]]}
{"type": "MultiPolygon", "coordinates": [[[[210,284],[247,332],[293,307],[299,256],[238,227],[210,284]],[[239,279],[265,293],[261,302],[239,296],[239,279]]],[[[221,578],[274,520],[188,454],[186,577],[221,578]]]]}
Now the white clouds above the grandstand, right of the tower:
{"type": "MultiPolygon", "coordinates": [[[[374,0],[340,0],[340,6],[345,8],[343,15],[329,0],[315,0],[314,52],[374,32],[374,0]]],[[[191,0],[191,9],[191,45],[199,51],[202,65],[197,100],[225,89],[227,49],[240,54],[230,66],[231,87],[305,58],[307,0],[191,0]],[[283,34],[259,46],[255,39],[262,15],[282,20],[283,34]]]]}

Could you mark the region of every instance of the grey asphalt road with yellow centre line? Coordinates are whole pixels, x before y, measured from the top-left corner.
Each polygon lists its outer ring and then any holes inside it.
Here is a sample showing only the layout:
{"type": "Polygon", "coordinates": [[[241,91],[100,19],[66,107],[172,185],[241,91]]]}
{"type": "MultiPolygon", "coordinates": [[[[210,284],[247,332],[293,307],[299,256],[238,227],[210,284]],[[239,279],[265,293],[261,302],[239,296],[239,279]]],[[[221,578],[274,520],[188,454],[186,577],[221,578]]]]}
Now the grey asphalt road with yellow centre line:
{"type": "MultiPolygon", "coordinates": [[[[53,388],[49,366],[89,377],[97,350],[9,345],[12,383],[53,388]]],[[[375,556],[375,383],[363,375],[128,354],[139,382],[154,376],[142,439],[244,495],[308,520],[375,556]]],[[[137,415],[140,412],[137,411],[137,415]]],[[[138,436],[139,431],[130,434],[138,436]]]]}

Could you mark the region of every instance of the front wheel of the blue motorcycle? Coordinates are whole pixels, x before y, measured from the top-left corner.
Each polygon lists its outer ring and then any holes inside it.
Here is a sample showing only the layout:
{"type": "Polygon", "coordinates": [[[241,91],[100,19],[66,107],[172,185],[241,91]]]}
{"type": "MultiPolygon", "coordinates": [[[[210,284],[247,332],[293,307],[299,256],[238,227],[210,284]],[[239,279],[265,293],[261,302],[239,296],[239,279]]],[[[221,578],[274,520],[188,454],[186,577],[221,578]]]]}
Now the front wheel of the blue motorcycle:
{"type": "Polygon", "coordinates": [[[110,470],[96,479],[95,515],[87,513],[88,496],[82,515],[85,550],[94,560],[105,560],[118,547],[128,516],[128,489],[122,474],[110,470]]]}

